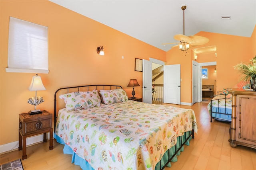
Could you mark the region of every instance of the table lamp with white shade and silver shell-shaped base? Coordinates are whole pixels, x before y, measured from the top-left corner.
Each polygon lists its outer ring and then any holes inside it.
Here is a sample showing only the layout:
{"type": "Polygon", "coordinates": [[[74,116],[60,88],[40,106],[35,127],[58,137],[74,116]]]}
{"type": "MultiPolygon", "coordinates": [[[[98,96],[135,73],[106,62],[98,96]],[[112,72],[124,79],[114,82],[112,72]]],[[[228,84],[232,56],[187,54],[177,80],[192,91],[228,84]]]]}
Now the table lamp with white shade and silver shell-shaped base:
{"type": "MultiPolygon", "coordinates": [[[[37,74],[36,74],[36,76],[33,76],[31,84],[30,84],[28,90],[29,91],[36,91],[36,92],[38,90],[45,90],[44,84],[43,84],[42,79],[41,79],[40,76],[38,76],[37,74]]],[[[32,98],[29,98],[28,99],[28,103],[34,105],[35,106],[35,110],[29,111],[28,113],[30,115],[42,113],[42,111],[40,109],[38,109],[38,110],[36,109],[36,106],[38,104],[42,103],[42,102],[44,102],[44,100],[40,96],[34,96],[32,98]]]]}

